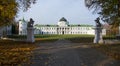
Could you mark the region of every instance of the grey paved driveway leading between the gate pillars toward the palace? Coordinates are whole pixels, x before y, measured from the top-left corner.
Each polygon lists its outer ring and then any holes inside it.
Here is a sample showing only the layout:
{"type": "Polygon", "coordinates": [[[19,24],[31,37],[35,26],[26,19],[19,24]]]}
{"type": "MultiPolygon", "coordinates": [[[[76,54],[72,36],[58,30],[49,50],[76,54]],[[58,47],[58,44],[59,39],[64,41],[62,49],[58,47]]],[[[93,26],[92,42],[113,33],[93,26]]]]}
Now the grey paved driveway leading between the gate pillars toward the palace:
{"type": "Polygon", "coordinates": [[[31,62],[28,66],[120,66],[120,61],[108,58],[90,45],[64,39],[40,43],[33,51],[31,62]]]}

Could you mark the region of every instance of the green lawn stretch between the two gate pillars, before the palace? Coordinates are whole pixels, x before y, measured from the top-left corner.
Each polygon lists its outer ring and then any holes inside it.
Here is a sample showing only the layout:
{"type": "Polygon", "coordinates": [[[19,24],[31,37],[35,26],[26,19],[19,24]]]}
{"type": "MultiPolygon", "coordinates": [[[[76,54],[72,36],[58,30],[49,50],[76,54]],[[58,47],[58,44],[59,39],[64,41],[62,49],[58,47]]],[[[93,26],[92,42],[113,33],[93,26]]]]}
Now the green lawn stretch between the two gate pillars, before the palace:
{"type": "Polygon", "coordinates": [[[58,39],[67,39],[74,43],[92,42],[93,35],[35,35],[37,42],[54,42],[58,39]]]}

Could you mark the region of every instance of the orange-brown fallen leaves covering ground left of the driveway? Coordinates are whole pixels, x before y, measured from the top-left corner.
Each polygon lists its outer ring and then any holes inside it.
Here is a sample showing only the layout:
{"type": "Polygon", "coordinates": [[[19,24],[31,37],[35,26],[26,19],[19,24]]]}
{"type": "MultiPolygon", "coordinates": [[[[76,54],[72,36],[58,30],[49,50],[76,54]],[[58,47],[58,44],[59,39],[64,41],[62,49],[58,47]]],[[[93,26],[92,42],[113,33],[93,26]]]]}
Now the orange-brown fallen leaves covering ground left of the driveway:
{"type": "Polygon", "coordinates": [[[0,40],[0,66],[17,66],[22,63],[30,64],[34,44],[0,40]]]}

